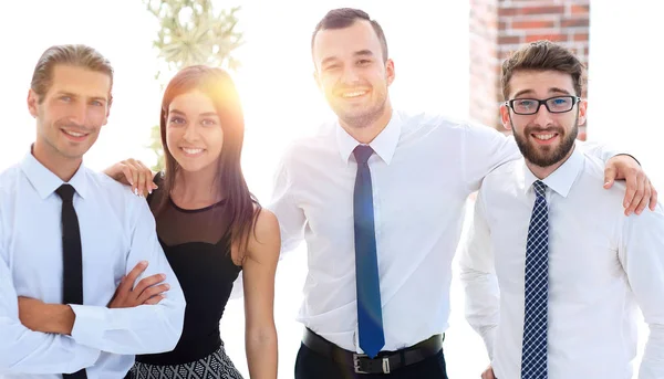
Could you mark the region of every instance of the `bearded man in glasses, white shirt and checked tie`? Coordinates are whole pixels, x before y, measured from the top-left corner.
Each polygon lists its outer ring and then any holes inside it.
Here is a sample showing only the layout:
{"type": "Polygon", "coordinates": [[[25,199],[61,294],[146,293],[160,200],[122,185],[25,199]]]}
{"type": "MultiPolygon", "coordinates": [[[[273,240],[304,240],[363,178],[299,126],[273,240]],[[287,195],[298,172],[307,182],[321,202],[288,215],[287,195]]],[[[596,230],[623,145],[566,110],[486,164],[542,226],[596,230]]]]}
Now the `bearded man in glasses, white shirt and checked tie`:
{"type": "Polygon", "coordinates": [[[485,178],[461,259],[485,379],[632,378],[637,306],[651,330],[640,378],[664,378],[664,213],[624,217],[624,186],[601,188],[603,162],[574,141],[582,74],[548,41],[502,65],[502,123],[523,157],[485,178]]]}

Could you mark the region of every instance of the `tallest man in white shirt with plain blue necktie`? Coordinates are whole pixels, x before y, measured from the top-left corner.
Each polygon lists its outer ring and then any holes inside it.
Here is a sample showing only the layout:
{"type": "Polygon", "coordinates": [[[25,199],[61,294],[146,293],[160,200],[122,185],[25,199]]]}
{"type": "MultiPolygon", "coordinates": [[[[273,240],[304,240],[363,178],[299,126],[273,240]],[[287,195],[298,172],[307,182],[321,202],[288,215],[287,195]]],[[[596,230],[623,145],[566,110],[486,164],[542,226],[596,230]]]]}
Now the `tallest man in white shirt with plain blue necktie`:
{"type": "MultiPolygon", "coordinates": [[[[283,250],[308,246],[295,378],[446,378],[442,333],[466,198],[518,149],[488,127],[393,110],[385,35],[360,10],[330,11],[312,56],[339,120],[286,152],[270,207],[283,250]]],[[[613,164],[640,171],[629,157],[613,164]]]]}

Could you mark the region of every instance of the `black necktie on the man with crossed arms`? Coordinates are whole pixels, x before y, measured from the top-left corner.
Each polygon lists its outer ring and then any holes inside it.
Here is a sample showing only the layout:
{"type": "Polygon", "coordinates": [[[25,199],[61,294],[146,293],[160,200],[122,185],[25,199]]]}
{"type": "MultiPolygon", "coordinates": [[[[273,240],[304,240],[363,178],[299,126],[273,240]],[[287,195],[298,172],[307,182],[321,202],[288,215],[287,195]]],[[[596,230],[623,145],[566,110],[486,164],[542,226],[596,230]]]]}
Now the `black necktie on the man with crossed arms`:
{"type": "MultiPolygon", "coordinates": [[[[62,303],[83,304],[83,254],[79,218],[74,210],[74,188],[62,185],[55,193],[62,199],[62,303]]],[[[65,379],[86,379],[85,369],[63,373],[65,379]]]]}

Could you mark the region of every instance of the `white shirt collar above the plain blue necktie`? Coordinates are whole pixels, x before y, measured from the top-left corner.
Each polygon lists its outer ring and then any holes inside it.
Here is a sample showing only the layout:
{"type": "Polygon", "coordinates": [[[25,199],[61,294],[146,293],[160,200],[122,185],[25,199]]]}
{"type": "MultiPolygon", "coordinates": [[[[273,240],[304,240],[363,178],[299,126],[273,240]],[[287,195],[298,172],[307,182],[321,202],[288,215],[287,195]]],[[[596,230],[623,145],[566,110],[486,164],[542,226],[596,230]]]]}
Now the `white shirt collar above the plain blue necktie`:
{"type": "MultiPolygon", "coordinates": [[[[376,155],[381,157],[381,159],[383,159],[383,161],[385,161],[387,165],[390,165],[392,161],[392,157],[396,150],[396,145],[398,144],[398,138],[401,137],[401,130],[402,119],[397,112],[392,112],[392,117],[390,118],[387,126],[385,126],[385,128],[376,136],[376,138],[369,144],[376,155]]],[[[341,159],[347,164],[351,154],[353,154],[355,147],[361,144],[347,131],[345,131],[338,122],[336,145],[339,147],[341,159]]]]}

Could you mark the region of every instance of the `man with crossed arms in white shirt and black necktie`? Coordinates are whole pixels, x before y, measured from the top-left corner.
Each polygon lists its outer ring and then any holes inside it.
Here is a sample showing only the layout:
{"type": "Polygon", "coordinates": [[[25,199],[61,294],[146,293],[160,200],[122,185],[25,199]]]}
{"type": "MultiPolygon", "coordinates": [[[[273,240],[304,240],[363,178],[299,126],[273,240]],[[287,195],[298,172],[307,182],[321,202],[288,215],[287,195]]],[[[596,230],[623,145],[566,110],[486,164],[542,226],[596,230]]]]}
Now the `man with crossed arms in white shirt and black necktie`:
{"type": "Polygon", "coordinates": [[[123,378],[134,355],[169,351],[181,334],[185,299],[147,203],[82,164],[112,83],[84,45],[52,46],[35,66],[37,139],[0,173],[1,378],[123,378]],[[133,287],[139,272],[151,276],[133,287]]]}

